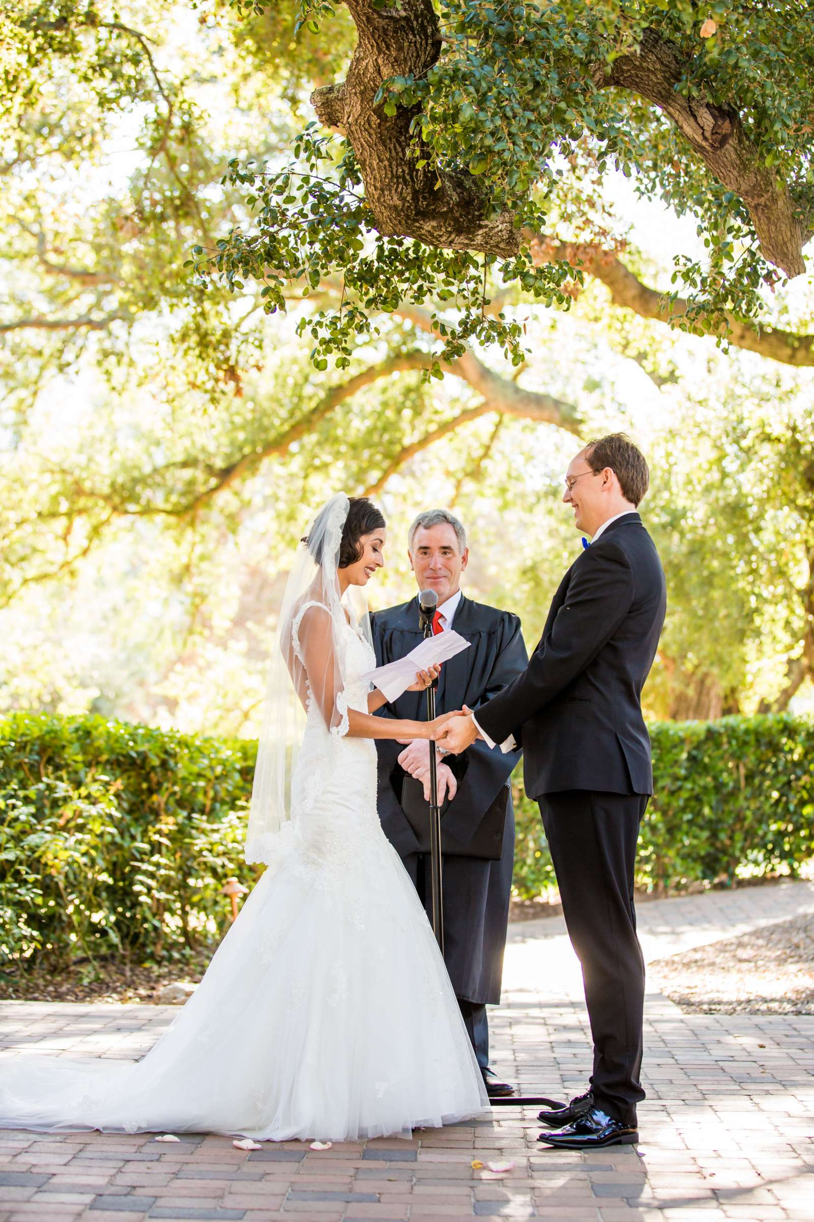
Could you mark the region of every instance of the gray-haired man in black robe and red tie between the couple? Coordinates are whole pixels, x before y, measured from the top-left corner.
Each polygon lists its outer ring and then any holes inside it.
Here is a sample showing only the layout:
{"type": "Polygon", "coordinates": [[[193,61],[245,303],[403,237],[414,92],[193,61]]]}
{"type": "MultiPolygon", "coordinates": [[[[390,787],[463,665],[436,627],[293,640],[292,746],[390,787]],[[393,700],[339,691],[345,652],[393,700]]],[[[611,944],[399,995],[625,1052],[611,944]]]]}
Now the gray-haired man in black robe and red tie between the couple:
{"type": "MultiPolygon", "coordinates": [[[[443,664],[436,710],[442,714],[464,704],[477,709],[526,667],[520,620],[464,595],[460,583],[469,562],[466,533],[447,510],[419,514],[410,527],[408,552],[419,590],[431,589],[438,595],[433,633],[454,627],[470,643],[469,649],[443,664]]],[[[376,612],[372,629],[378,666],[408,654],[422,637],[417,599],[376,612]]],[[[380,715],[423,720],[425,697],[406,692],[384,705],[380,715]]],[[[437,748],[426,739],[406,744],[377,739],[376,749],[382,827],[431,915],[430,854],[421,841],[421,815],[430,794],[428,753],[437,748]]],[[[519,759],[519,752],[491,752],[481,741],[461,755],[437,754],[444,960],[486,1089],[493,1097],[513,1092],[489,1068],[486,1007],[500,1001],[515,838],[509,777],[519,759]]]]}

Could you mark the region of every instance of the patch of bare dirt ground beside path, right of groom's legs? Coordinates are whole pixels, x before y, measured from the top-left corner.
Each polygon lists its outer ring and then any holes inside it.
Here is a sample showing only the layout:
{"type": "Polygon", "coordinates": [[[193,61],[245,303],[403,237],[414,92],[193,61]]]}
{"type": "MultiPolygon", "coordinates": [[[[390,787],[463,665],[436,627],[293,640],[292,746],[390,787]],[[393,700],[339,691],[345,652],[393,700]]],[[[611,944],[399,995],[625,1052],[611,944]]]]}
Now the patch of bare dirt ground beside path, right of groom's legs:
{"type": "Polygon", "coordinates": [[[814,915],[648,965],[686,1014],[814,1014],[814,915]]]}

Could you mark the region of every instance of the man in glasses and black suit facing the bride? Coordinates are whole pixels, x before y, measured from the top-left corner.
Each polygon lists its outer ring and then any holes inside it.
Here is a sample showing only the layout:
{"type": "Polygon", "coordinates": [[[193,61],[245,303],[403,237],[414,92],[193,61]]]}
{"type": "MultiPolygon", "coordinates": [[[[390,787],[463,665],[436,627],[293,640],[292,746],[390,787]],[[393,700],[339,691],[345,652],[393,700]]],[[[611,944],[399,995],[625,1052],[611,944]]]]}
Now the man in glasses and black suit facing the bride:
{"type": "Polygon", "coordinates": [[[583,538],[560,582],[527,668],[474,715],[448,721],[439,739],[452,752],[476,738],[504,752],[522,745],[593,1036],[586,1094],[539,1113],[553,1132],[538,1140],[566,1149],[635,1143],[644,1099],[633,866],[653,772],[641,694],[666,607],[658,552],[636,512],[648,483],[644,457],[624,434],[572,459],[563,500],[592,541],[583,538]]]}

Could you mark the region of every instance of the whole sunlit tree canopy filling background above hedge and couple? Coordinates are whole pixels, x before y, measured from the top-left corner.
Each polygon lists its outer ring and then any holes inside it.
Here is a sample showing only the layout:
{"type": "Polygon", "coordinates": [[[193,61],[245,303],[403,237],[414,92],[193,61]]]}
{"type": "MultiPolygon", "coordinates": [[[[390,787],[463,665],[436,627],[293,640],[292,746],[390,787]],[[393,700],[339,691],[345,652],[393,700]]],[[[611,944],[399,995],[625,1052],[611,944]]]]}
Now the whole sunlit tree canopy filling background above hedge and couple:
{"type": "MultiPolygon", "coordinates": [[[[397,554],[456,506],[472,589],[533,638],[561,469],[620,426],[670,583],[650,711],[799,698],[805,6],[4,17],[4,706],[250,726],[273,572],[339,484],[397,554]]],[[[380,596],[409,589],[402,557],[380,596]]]]}

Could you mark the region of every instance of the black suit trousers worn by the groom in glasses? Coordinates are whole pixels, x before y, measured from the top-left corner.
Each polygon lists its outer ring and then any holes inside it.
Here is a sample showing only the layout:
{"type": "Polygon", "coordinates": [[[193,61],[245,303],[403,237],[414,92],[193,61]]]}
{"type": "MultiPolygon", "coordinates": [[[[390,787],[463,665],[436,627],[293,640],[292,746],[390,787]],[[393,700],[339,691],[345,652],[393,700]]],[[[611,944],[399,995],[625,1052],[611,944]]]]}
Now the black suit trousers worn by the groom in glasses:
{"type": "Polygon", "coordinates": [[[582,964],[593,1036],[591,1090],[609,1116],[636,1123],[644,1099],[644,960],[636,936],[633,866],[648,799],[570,789],[539,799],[563,915],[582,964]]]}

